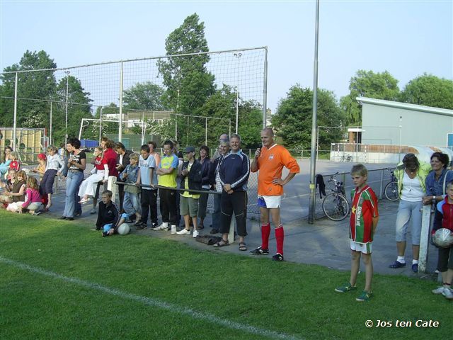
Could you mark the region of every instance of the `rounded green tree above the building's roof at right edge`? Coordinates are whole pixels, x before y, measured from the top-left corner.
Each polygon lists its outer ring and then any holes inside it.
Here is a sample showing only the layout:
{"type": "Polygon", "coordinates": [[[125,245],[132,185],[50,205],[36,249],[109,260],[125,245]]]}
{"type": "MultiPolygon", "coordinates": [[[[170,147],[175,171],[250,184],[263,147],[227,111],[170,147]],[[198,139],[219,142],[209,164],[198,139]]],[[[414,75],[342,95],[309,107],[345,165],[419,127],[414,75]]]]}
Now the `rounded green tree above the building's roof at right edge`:
{"type": "Polygon", "coordinates": [[[453,109],[453,81],[432,74],[412,79],[401,91],[404,103],[453,109]]]}

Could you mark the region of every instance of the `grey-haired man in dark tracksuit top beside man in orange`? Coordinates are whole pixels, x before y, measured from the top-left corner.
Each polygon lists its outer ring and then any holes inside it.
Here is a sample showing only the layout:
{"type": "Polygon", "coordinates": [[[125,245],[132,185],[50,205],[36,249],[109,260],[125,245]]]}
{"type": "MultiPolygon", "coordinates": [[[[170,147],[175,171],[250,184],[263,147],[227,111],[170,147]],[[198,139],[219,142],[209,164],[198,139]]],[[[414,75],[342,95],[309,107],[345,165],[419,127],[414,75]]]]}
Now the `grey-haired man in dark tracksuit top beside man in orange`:
{"type": "Polygon", "coordinates": [[[250,175],[250,161],[241,151],[241,137],[232,135],[229,140],[230,152],[224,156],[219,169],[220,183],[223,191],[220,198],[221,219],[220,232],[222,241],[214,246],[228,245],[228,233],[231,217],[234,212],[239,236],[239,250],[247,250],[244,237],[247,236],[247,182],[250,175]]]}

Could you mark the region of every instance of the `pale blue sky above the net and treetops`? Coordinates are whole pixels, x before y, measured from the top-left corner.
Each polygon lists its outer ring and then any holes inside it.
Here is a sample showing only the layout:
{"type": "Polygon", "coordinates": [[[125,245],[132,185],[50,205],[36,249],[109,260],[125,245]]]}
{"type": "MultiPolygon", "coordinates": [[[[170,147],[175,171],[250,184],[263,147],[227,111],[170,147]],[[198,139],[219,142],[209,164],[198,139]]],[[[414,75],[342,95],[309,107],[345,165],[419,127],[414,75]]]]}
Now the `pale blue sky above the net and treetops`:
{"type": "MultiPolygon", "coordinates": [[[[26,50],[58,67],[165,55],[187,16],[210,51],[268,47],[268,108],[313,88],[315,1],[0,0],[0,69],[26,50]]],[[[336,98],[357,70],[388,71],[400,89],[423,73],[453,79],[453,1],[327,1],[319,11],[319,79],[336,98]]]]}

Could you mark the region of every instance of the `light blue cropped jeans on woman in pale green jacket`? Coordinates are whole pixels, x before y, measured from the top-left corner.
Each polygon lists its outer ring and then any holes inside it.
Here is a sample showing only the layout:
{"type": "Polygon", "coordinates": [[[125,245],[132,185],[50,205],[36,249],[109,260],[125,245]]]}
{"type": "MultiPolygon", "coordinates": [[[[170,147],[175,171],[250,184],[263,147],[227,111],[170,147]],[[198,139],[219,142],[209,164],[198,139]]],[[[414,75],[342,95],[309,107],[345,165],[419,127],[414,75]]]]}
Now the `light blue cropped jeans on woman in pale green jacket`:
{"type": "Polygon", "coordinates": [[[412,244],[418,246],[420,244],[420,234],[422,231],[422,212],[423,202],[409,202],[408,200],[400,200],[398,205],[398,213],[396,215],[396,242],[405,242],[406,233],[408,231],[409,221],[412,222],[412,244]]]}

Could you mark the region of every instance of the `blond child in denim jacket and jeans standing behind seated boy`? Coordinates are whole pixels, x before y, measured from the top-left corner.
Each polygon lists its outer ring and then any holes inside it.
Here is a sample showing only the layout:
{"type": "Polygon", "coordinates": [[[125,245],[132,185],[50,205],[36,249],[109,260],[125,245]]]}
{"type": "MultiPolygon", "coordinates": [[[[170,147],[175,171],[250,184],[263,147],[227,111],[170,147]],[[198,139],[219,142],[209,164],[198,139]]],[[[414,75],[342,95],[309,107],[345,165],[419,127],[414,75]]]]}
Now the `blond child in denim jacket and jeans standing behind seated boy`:
{"type": "MultiPolygon", "coordinates": [[[[120,179],[125,180],[125,183],[135,184],[139,169],[139,154],[131,154],[130,164],[127,164],[126,169],[121,172],[120,179]]],[[[135,222],[139,222],[142,218],[139,192],[138,186],[125,186],[125,198],[122,203],[122,208],[129,219],[135,215],[135,222]]]]}

